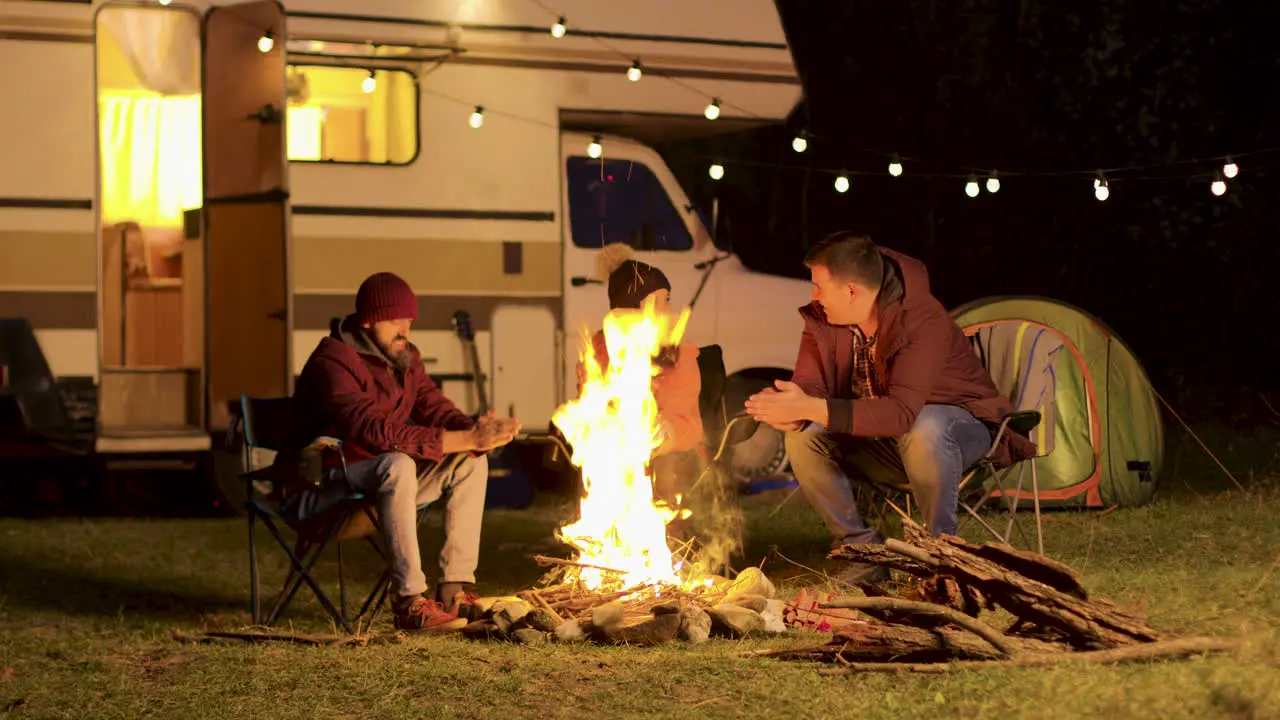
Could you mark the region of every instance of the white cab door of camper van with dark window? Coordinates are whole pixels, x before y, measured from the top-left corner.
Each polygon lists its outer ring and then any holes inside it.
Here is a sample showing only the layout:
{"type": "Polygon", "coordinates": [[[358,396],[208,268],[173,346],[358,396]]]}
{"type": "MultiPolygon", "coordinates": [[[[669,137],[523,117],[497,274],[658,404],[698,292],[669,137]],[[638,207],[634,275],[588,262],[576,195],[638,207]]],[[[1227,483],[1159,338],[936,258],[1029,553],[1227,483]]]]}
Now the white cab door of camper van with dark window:
{"type": "MultiPolygon", "coordinates": [[[[590,158],[591,137],[564,133],[564,365],[566,397],[577,397],[577,360],[584,332],[600,329],[609,311],[605,278],[598,277],[603,246],[630,245],[635,259],[657,266],[671,282],[672,310],[689,306],[701,282],[696,264],[714,255],[707,227],[692,210],[662,158],[650,147],[621,137],[602,141],[603,155],[590,158]]],[[[710,291],[703,291],[705,304],[710,291]]],[[[694,345],[716,342],[713,313],[694,313],[685,337],[694,345]]]]}

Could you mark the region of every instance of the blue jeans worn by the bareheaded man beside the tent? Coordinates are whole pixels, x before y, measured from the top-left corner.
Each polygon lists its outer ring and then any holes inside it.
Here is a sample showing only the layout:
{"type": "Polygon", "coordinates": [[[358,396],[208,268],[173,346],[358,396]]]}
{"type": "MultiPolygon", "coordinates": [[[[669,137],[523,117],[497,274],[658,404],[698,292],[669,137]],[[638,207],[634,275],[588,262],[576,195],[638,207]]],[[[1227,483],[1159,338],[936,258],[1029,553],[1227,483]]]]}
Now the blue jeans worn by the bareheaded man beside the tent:
{"type": "Polygon", "coordinates": [[[828,433],[810,423],[787,433],[786,446],[800,489],[838,546],[884,542],[858,512],[854,479],[909,486],[929,533],[955,534],[960,479],[991,441],[991,429],[968,410],[925,405],[897,438],[828,433]]]}

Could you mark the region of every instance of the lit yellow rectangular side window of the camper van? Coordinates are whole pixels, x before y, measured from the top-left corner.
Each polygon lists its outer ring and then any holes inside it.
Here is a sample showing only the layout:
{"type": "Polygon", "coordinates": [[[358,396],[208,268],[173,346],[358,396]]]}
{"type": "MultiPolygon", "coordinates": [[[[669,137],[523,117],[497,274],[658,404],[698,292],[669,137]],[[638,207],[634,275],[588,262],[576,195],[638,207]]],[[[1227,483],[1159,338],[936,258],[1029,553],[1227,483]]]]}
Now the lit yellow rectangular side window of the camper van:
{"type": "Polygon", "coordinates": [[[289,65],[289,160],[407,165],[417,158],[417,76],[289,65]]]}

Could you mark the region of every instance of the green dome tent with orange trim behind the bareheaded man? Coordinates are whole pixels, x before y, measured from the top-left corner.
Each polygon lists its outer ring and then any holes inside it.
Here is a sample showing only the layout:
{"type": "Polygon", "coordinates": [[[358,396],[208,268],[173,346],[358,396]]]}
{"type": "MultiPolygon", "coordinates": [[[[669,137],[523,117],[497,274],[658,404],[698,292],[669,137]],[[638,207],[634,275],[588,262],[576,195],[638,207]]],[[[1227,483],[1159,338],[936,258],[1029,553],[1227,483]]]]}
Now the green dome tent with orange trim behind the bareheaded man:
{"type": "MultiPolygon", "coordinates": [[[[1164,459],[1156,393],[1101,320],[1044,297],[988,297],[952,311],[1019,410],[1039,410],[1032,439],[1042,507],[1151,502],[1164,459]]],[[[1016,487],[1015,469],[1005,487],[1016,487]]],[[[1021,500],[1030,500],[1027,471],[1021,500]]],[[[998,493],[997,493],[998,495],[998,493]]],[[[1020,500],[1020,502],[1021,502],[1020,500]]]]}

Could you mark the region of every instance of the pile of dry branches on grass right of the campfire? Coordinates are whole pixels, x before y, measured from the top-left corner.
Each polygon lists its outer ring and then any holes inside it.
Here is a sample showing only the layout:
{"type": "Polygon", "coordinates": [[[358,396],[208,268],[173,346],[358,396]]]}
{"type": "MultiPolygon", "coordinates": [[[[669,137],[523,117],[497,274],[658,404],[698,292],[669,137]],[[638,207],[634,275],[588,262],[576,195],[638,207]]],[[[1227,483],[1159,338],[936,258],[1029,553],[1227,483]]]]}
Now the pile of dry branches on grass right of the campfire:
{"type": "Polygon", "coordinates": [[[934,538],[902,520],[906,542],[844,546],[832,557],[882,565],[916,579],[895,597],[877,587],[867,597],[822,607],[865,615],[836,628],[831,642],[773,650],[754,657],[826,661],[828,673],[946,673],[992,665],[1041,666],[1075,660],[1129,662],[1225,651],[1228,638],[1170,639],[1135,614],[1094,598],[1066,565],[1005,544],[977,546],[954,536],[934,538]],[[1004,630],[980,619],[1012,615],[1004,630]]]}

